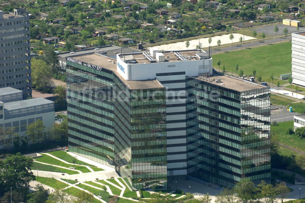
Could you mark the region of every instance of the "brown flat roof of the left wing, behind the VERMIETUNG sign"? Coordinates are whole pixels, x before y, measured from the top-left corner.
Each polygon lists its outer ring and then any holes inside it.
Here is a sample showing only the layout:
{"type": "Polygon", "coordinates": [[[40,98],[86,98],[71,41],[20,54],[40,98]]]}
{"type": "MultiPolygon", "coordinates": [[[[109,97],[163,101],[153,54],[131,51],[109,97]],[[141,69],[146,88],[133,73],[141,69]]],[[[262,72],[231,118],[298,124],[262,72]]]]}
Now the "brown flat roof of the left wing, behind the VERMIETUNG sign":
{"type": "Polygon", "coordinates": [[[96,66],[106,68],[113,71],[128,87],[129,89],[150,89],[150,88],[162,88],[163,85],[157,80],[125,80],[119,73],[117,73],[117,60],[113,58],[100,55],[100,54],[87,54],[82,56],[73,57],[79,61],[94,64],[96,66]],[[109,61],[111,60],[111,61],[109,61]],[[113,64],[112,61],[115,61],[113,64]]]}

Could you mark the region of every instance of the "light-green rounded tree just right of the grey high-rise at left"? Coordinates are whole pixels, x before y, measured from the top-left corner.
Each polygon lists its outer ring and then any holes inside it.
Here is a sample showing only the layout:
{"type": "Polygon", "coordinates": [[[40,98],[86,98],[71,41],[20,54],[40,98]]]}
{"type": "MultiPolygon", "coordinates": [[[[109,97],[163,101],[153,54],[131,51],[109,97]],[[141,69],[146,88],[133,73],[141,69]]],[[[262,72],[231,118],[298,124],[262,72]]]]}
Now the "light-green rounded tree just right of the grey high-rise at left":
{"type": "Polygon", "coordinates": [[[45,61],[33,58],[31,60],[32,85],[38,90],[46,91],[53,86],[52,72],[45,61]]]}

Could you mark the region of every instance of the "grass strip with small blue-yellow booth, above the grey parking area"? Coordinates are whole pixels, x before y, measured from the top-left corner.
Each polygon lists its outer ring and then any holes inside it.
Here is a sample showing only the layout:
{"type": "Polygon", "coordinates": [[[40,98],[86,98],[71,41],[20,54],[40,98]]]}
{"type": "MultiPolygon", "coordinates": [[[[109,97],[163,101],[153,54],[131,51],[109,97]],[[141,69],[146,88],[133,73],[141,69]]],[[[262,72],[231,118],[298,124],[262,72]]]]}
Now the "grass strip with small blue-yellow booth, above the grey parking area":
{"type": "Polygon", "coordinates": [[[278,96],[276,94],[271,94],[270,102],[275,105],[288,106],[287,109],[291,106],[293,112],[305,113],[305,103],[304,102],[292,103],[292,102],[296,102],[296,101],[278,96]]]}

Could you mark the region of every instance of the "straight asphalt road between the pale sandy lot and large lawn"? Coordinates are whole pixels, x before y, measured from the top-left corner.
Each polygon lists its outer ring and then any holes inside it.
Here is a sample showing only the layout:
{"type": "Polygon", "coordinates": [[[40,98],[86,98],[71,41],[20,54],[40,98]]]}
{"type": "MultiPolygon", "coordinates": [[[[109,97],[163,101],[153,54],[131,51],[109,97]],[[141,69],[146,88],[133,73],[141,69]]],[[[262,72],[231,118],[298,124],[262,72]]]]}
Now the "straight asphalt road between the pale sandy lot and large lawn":
{"type": "MultiPolygon", "coordinates": [[[[267,39],[265,40],[265,45],[272,45],[273,43],[278,43],[278,42],[284,42],[284,41],[288,41],[291,40],[291,36],[288,37],[282,37],[282,38],[275,38],[275,39],[267,39]]],[[[247,43],[247,44],[242,44],[242,45],[236,45],[236,46],[228,46],[228,47],[224,47],[219,49],[214,49],[212,50],[212,54],[213,53],[218,53],[218,52],[229,52],[229,51],[233,51],[233,50],[238,50],[238,49],[245,49],[245,48],[249,48],[251,49],[251,47],[253,46],[260,46],[260,45],[264,45],[263,41],[259,41],[259,42],[251,42],[251,43],[247,43]]],[[[208,50],[205,50],[207,53],[209,52],[208,50]]]]}

